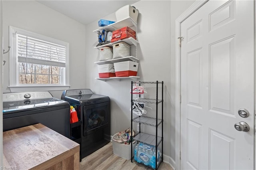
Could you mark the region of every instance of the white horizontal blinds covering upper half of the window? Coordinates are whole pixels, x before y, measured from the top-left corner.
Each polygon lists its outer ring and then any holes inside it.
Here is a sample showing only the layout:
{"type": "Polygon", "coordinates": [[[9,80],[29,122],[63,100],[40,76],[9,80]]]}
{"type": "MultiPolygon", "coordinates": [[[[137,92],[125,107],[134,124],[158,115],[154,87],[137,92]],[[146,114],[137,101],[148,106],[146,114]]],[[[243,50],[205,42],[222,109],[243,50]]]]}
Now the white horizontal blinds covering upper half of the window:
{"type": "Polygon", "coordinates": [[[18,62],[66,67],[66,47],[17,34],[18,62]]]}

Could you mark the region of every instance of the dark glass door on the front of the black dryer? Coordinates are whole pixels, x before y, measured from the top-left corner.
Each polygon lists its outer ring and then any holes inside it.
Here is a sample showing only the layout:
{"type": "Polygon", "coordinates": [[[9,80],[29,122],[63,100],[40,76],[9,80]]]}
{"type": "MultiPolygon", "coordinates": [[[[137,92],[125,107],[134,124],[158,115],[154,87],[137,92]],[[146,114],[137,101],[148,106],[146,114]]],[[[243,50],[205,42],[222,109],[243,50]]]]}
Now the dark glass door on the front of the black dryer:
{"type": "Polygon", "coordinates": [[[100,127],[108,125],[110,117],[110,104],[109,102],[98,103],[94,105],[86,105],[83,108],[83,128],[84,136],[93,133],[100,127]]]}

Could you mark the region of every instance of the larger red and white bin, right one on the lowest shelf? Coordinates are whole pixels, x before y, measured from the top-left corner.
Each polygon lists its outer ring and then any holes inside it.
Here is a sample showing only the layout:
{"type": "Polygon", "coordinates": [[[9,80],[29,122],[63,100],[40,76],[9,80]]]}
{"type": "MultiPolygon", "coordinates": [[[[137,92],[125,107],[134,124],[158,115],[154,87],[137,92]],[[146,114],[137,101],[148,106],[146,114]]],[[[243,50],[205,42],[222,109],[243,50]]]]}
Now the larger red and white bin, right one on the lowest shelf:
{"type": "Polygon", "coordinates": [[[139,63],[134,61],[122,61],[114,63],[116,77],[137,76],[139,63]]]}

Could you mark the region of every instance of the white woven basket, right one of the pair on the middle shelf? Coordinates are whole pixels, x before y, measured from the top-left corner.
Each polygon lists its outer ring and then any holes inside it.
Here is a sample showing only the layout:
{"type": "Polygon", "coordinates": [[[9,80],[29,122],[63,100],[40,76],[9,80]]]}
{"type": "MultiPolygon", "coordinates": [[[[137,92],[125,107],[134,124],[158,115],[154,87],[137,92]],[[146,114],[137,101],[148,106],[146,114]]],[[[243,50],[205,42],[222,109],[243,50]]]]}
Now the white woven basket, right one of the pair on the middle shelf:
{"type": "Polygon", "coordinates": [[[130,56],[130,45],[125,42],[113,44],[113,59],[130,56]]]}

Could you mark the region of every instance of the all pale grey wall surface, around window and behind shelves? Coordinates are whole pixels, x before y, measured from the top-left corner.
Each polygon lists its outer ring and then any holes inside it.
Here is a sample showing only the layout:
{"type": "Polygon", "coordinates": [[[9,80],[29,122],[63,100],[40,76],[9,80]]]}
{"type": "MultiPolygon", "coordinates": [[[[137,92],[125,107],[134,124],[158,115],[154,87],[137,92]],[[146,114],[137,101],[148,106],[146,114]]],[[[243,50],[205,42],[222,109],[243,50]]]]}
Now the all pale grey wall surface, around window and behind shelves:
{"type": "MultiPolygon", "coordinates": [[[[135,6],[138,17],[138,76],[140,81],[164,81],[164,155],[175,166],[175,19],[194,0],[139,1],[135,6]]],[[[115,14],[99,19],[116,20],[115,14]]],[[[8,26],[50,36],[70,43],[70,89],[89,88],[111,99],[111,134],[130,127],[130,79],[99,81],[97,34],[98,20],[86,26],[35,1],[3,1],[4,48],[8,46],[8,26]],[[20,10],[22,9],[22,10],[20,10]],[[31,15],[32,14],[32,15],[31,15]],[[22,20],[25,19],[25,22],[22,20]]],[[[10,92],[8,55],[4,55],[4,92],[10,92]]],[[[147,89],[148,94],[154,88],[147,89]]],[[[54,91],[60,98],[62,91],[54,91]]],[[[153,96],[154,97],[154,96],[153,96]]],[[[151,106],[151,105],[149,105],[151,106]]],[[[160,106],[160,105],[159,105],[160,106]]],[[[152,107],[152,106],[151,106],[152,107]]],[[[148,110],[147,114],[154,114],[148,110]]],[[[152,131],[151,128],[144,131],[152,131]]],[[[153,132],[153,131],[152,131],[153,132]]]]}

